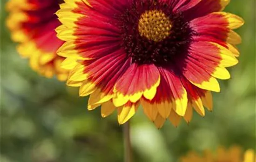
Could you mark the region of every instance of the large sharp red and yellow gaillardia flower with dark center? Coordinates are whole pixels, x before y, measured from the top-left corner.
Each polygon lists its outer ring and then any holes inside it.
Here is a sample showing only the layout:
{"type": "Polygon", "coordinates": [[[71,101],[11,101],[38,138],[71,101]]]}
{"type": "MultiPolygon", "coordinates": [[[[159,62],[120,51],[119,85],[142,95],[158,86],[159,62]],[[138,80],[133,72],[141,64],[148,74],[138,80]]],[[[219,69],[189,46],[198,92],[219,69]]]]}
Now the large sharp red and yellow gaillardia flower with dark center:
{"type": "Polygon", "coordinates": [[[160,128],[212,109],[210,91],[238,63],[233,29],[243,19],[221,12],[229,0],[65,0],[57,15],[58,54],[67,85],[90,94],[88,109],[115,109],[125,123],[141,104],[160,128]]]}

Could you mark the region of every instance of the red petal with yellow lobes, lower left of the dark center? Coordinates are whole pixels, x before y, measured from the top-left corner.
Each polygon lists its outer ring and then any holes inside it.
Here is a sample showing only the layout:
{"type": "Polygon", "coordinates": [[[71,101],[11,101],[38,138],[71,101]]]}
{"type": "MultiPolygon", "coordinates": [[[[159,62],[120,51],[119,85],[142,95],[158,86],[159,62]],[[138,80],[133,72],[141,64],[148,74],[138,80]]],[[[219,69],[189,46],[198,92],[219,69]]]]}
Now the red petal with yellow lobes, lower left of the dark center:
{"type": "Polygon", "coordinates": [[[100,59],[84,60],[71,71],[68,82],[82,82],[80,95],[92,94],[94,100],[88,107],[101,104],[113,97],[116,81],[130,66],[130,60],[122,50],[103,56],[100,59]],[[96,91],[98,89],[98,91],[96,91]]]}

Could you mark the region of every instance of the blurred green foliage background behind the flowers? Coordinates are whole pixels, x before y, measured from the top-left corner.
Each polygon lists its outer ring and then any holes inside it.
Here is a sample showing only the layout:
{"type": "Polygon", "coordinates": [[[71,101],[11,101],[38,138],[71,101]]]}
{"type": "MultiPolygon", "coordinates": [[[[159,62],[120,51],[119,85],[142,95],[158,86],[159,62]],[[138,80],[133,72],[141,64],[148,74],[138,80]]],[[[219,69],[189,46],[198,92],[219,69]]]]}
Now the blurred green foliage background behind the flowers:
{"type": "MultiPolygon", "coordinates": [[[[20,59],[5,27],[1,0],[1,137],[0,162],[122,162],[122,127],[116,114],[103,119],[100,109],[87,110],[88,98],[76,88],[46,79],[20,59]]],[[[245,20],[232,78],[220,81],[214,111],[175,128],[157,130],[141,109],[132,118],[135,162],[176,162],[189,150],[215,150],[218,145],[255,149],[256,143],[256,2],[231,0],[225,11],[245,20]]]]}

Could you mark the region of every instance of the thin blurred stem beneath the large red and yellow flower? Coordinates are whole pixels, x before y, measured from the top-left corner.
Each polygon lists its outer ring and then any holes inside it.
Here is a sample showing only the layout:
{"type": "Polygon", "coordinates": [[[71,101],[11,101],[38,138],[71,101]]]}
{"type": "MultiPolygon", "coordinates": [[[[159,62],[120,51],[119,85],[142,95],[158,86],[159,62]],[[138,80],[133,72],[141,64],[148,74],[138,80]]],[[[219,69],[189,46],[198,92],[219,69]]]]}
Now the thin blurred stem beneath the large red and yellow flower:
{"type": "Polygon", "coordinates": [[[132,147],[130,139],[130,123],[129,121],[123,125],[124,136],[124,162],[132,162],[132,147]]]}

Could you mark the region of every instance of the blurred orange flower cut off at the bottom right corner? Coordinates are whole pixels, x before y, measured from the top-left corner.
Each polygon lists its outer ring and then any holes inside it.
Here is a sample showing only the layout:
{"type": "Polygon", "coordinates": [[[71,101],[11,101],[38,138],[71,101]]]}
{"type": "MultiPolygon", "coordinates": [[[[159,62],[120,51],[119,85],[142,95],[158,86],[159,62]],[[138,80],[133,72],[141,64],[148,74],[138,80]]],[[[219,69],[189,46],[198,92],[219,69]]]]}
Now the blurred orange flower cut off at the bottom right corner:
{"type": "Polygon", "coordinates": [[[181,158],[181,162],[256,162],[254,150],[246,150],[244,155],[242,153],[241,148],[237,146],[233,146],[229,150],[220,147],[216,156],[209,150],[206,150],[203,156],[190,152],[181,158]]]}

